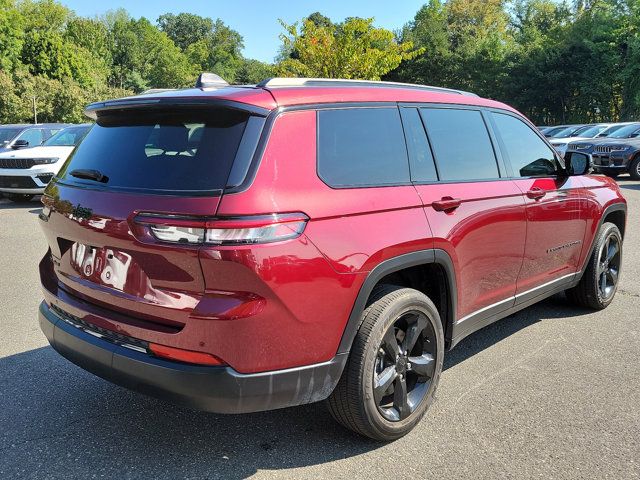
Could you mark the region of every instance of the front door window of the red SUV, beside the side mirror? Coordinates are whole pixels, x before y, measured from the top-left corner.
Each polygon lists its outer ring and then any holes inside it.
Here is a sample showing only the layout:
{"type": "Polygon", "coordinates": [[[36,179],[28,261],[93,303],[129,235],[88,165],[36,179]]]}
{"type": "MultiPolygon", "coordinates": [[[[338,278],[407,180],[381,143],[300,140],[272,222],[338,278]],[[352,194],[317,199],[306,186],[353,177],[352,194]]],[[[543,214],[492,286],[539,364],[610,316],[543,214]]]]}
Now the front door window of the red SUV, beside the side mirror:
{"type": "Polygon", "coordinates": [[[531,128],[511,115],[492,112],[515,177],[548,177],[558,173],[551,148],[531,128]]]}

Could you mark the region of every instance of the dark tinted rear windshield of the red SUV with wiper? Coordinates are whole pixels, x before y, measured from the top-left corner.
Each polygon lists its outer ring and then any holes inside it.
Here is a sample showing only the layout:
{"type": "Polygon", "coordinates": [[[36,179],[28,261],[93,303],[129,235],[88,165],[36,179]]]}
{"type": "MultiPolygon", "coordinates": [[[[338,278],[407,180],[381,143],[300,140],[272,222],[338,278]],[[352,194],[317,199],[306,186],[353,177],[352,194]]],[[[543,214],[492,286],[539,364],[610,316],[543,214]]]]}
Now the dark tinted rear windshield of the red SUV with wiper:
{"type": "Polygon", "coordinates": [[[103,114],[59,176],[119,190],[220,190],[247,120],[248,114],[230,109],[103,114]],[[100,180],[87,179],[87,171],[100,180]]]}

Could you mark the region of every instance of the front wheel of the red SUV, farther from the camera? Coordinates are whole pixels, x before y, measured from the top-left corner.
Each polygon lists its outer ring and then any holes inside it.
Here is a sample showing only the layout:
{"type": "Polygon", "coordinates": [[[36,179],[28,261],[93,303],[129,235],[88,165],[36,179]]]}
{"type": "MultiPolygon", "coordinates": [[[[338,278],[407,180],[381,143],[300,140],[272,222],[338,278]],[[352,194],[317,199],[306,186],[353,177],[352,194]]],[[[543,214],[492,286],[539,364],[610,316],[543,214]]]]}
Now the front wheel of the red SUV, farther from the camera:
{"type": "Polygon", "coordinates": [[[615,297],[622,265],[622,235],[613,223],[603,223],[580,283],[566,291],[574,304],[602,310],[615,297]],[[605,255],[606,252],[606,255],[605,255]]]}

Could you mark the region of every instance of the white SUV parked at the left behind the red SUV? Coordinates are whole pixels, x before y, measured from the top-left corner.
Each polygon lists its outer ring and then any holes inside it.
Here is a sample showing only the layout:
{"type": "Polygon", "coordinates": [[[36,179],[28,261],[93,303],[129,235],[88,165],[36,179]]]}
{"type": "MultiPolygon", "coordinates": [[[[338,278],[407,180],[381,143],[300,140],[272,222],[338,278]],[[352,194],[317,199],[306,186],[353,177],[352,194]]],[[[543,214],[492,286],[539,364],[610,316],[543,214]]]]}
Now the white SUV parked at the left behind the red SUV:
{"type": "Polygon", "coordinates": [[[91,124],[60,130],[39,147],[0,153],[0,192],[13,201],[28,201],[44,192],[91,124]]]}

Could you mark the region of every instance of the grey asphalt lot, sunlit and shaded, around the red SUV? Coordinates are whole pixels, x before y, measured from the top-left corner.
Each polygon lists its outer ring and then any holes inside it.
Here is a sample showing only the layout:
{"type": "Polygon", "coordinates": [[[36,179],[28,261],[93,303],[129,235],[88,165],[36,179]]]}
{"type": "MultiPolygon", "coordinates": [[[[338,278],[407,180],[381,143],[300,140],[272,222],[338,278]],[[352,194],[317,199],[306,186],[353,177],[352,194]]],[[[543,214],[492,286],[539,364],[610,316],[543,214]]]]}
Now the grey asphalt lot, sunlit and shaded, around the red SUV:
{"type": "Polygon", "coordinates": [[[177,408],[85,373],[37,327],[38,203],[0,201],[0,478],[639,478],[640,182],[606,312],[553,298],[462,342],[437,401],[383,445],[322,405],[177,408]]]}

